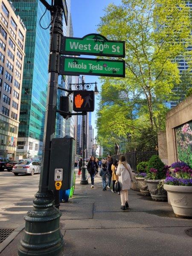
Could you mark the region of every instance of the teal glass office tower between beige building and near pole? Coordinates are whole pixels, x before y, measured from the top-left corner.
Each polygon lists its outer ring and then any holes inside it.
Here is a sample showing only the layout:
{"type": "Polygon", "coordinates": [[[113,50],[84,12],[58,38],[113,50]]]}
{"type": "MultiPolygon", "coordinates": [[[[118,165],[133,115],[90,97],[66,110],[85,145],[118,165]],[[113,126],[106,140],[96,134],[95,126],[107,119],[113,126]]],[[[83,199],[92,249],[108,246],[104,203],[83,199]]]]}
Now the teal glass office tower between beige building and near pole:
{"type": "MultiPolygon", "coordinates": [[[[39,157],[42,155],[44,120],[46,111],[50,14],[38,0],[12,0],[16,14],[25,23],[26,57],[23,68],[20,125],[17,142],[17,157],[39,157]],[[41,26],[40,21],[41,19],[41,26]]],[[[51,1],[49,0],[49,3],[51,1]]]]}

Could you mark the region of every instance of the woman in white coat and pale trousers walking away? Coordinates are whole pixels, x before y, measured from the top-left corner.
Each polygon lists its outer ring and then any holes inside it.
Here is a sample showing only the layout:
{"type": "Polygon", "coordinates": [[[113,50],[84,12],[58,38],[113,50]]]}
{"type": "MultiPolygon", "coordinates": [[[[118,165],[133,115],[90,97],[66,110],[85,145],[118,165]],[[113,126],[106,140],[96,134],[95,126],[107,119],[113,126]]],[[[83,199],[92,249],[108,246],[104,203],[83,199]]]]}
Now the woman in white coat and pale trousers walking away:
{"type": "Polygon", "coordinates": [[[125,156],[120,156],[119,164],[116,170],[119,183],[121,186],[121,209],[128,208],[128,189],[131,188],[131,182],[133,181],[133,175],[131,166],[125,161],[125,156]]]}

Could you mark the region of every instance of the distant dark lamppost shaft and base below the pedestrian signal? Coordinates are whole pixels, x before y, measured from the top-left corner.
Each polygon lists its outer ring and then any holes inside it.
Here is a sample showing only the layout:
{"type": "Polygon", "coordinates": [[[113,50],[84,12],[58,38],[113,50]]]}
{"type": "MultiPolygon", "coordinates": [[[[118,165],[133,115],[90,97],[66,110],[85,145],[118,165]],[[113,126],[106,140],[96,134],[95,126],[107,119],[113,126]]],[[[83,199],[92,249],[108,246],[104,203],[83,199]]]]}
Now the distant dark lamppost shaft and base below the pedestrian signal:
{"type": "Polygon", "coordinates": [[[81,185],[87,185],[88,180],[87,180],[87,174],[86,174],[86,165],[85,165],[85,120],[84,120],[84,115],[83,115],[83,121],[82,121],[82,154],[83,154],[83,163],[81,167],[81,185]]]}

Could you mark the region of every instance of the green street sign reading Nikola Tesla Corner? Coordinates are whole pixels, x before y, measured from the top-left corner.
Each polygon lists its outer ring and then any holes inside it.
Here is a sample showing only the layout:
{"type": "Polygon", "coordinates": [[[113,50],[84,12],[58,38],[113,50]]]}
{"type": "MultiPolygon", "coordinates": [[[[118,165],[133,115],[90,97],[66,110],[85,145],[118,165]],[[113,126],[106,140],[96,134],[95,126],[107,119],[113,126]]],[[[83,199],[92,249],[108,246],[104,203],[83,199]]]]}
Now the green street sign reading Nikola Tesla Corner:
{"type": "Polygon", "coordinates": [[[125,61],[61,56],[59,74],[125,77],[125,61]]]}

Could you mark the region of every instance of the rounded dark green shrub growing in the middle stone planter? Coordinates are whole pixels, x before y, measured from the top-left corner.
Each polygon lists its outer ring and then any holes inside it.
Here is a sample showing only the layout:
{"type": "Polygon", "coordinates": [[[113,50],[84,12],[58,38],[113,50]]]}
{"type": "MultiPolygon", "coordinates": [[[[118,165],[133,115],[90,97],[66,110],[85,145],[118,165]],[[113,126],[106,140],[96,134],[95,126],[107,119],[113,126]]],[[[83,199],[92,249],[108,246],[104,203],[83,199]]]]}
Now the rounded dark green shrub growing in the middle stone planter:
{"type": "Polygon", "coordinates": [[[165,178],[166,172],[164,171],[164,163],[160,160],[160,157],[157,155],[153,155],[149,160],[148,160],[148,166],[147,166],[147,174],[150,173],[150,169],[154,168],[157,169],[157,180],[161,180],[165,178]]]}

